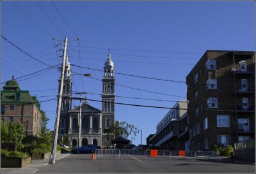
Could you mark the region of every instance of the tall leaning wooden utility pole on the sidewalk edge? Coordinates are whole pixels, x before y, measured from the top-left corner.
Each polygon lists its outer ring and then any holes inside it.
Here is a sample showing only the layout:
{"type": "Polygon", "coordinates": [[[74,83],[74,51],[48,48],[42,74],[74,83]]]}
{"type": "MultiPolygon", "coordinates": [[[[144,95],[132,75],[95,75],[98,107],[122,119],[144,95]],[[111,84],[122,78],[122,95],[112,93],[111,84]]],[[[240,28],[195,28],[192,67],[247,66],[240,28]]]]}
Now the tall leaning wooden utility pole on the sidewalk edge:
{"type": "Polygon", "coordinates": [[[60,89],[58,95],[58,106],[57,106],[57,114],[54,126],[54,134],[52,138],[52,150],[49,163],[55,164],[56,160],[56,149],[57,149],[57,141],[58,141],[58,131],[59,131],[59,122],[60,122],[60,108],[61,108],[61,101],[62,101],[62,92],[63,92],[63,81],[64,81],[64,73],[65,73],[65,64],[67,59],[67,43],[68,38],[65,38],[64,43],[64,50],[63,50],[63,62],[62,62],[62,69],[61,69],[61,81],[60,81],[60,89]]]}

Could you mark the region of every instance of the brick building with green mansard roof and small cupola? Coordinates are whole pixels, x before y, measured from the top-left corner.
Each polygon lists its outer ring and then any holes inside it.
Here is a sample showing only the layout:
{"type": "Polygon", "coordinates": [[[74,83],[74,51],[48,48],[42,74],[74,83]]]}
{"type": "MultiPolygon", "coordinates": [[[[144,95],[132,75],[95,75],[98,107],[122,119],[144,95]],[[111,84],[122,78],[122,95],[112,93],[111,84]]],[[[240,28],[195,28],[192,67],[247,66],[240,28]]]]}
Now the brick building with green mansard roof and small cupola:
{"type": "Polygon", "coordinates": [[[1,91],[1,119],[5,123],[21,122],[28,135],[41,133],[40,103],[29,91],[20,91],[19,83],[8,80],[1,91]]]}

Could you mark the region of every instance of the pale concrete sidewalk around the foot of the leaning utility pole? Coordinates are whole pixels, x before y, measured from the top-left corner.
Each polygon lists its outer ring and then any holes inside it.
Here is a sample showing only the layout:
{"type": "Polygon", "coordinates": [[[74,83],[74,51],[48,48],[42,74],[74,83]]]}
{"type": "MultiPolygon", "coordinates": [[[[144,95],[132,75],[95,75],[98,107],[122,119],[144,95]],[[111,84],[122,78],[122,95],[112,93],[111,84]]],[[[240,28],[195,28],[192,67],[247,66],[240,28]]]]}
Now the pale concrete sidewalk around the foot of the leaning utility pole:
{"type": "MultiPolygon", "coordinates": [[[[56,154],[56,160],[67,157],[70,154],[56,154]]],[[[31,163],[23,168],[1,168],[1,173],[35,173],[38,168],[47,166],[49,164],[49,158],[46,159],[32,159],[31,163]]]]}

